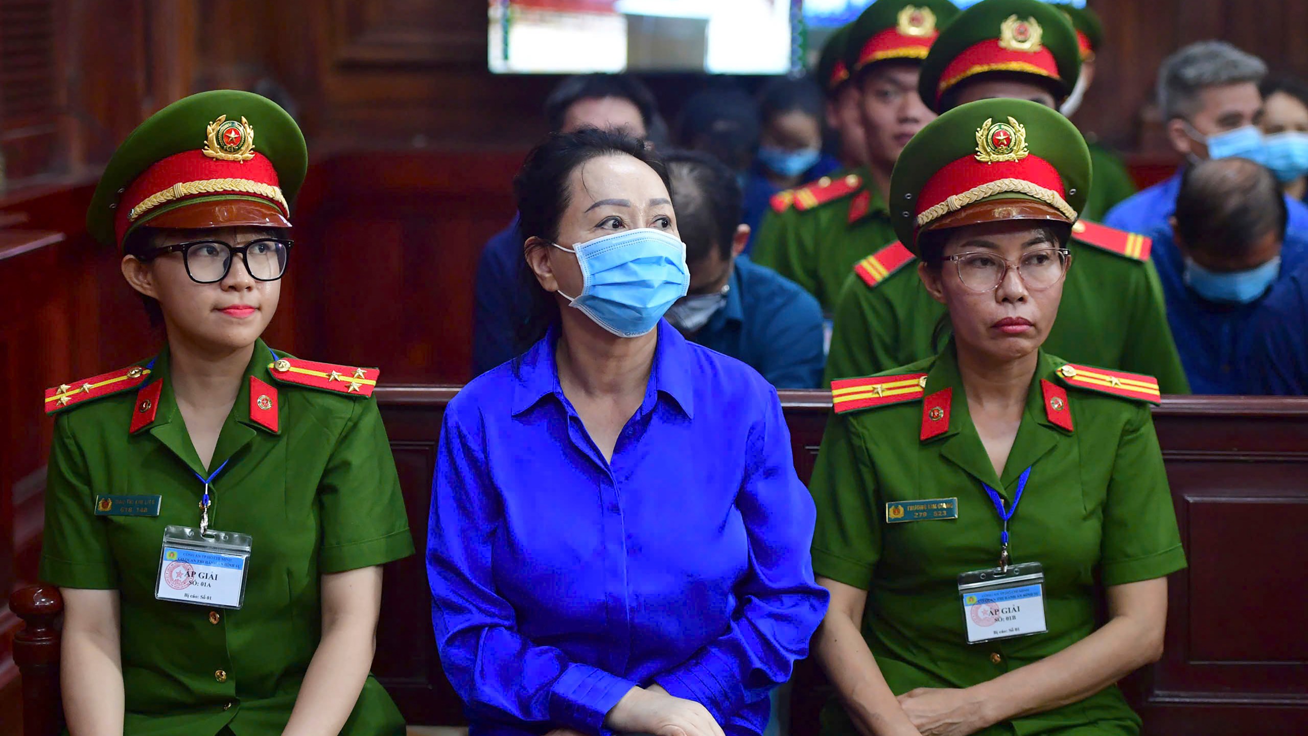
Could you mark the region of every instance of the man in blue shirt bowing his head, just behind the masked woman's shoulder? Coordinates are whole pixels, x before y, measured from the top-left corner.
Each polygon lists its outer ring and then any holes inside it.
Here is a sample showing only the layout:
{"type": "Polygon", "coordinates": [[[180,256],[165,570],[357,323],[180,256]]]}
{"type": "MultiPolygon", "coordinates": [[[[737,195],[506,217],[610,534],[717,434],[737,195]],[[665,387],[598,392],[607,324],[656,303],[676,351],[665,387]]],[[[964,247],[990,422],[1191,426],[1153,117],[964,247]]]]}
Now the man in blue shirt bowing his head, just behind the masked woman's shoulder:
{"type": "Polygon", "coordinates": [[[664,162],[691,267],[689,292],[668,309],[667,321],[778,389],[819,388],[825,364],[821,306],[799,284],[740,255],[749,227],[740,224],[735,175],[704,153],[674,152],[664,162]]]}

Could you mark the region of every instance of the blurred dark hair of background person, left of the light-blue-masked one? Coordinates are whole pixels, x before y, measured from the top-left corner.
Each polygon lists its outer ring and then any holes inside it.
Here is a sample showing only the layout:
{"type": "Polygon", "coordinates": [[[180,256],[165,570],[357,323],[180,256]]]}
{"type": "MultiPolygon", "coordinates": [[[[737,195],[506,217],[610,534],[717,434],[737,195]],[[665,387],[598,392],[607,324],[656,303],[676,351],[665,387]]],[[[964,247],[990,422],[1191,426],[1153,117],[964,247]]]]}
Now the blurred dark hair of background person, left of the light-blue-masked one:
{"type": "Polygon", "coordinates": [[[702,151],[743,172],[759,147],[759,106],[739,88],[714,81],[685,100],[676,130],[683,148],[702,151]]]}

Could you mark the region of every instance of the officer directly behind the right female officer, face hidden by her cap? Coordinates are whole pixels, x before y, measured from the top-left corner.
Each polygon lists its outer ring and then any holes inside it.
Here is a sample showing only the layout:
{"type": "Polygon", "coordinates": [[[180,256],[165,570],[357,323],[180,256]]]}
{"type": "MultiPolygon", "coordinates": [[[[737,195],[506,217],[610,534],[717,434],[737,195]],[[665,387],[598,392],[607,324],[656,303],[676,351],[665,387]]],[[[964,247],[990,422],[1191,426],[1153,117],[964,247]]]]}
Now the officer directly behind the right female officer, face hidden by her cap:
{"type": "MultiPolygon", "coordinates": [[[[1079,52],[1067,17],[1039,0],[982,0],[946,29],[922,64],[920,92],[937,111],[985,98],[1050,109],[1076,83],[1079,52]]],[[[1092,182],[1086,186],[1093,187],[1092,182]]],[[[904,203],[893,203],[896,212],[904,203]]],[[[1164,393],[1189,393],[1148,238],[1084,219],[1073,225],[1059,320],[1049,351],[1069,360],[1156,376],[1164,393]]],[[[835,316],[827,380],[871,375],[933,355],[944,312],[921,287],[899,242],[846,279],[835,316]]]]}

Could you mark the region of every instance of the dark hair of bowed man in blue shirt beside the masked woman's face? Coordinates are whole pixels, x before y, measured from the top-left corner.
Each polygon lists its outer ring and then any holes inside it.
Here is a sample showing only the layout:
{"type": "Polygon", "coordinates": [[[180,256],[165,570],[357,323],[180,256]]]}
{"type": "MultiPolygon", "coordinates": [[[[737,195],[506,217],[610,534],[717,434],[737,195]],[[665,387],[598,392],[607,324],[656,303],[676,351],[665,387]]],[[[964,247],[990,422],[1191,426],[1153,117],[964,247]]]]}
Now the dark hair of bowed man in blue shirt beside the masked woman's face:
{"type": "Polygon", "coordinates": [[[698,263],[714,249],[722,258],[731,258],[731,241],[744,211],[744,195],[735,173],[698,151],[672,151],[663,162],[676,211],[676,230],[685,242],[685,261],[698,263]]]}

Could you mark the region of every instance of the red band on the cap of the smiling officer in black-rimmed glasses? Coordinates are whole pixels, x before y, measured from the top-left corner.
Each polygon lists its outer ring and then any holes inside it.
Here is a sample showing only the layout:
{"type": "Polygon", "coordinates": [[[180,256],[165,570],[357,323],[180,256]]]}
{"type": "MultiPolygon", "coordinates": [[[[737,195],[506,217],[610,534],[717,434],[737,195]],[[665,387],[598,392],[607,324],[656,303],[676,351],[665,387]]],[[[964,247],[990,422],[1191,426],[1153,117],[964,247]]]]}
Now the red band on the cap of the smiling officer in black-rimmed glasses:
{"type": "MultiPolygon", "coordinates": [[[[183,151],[182,153],[174,153],[166,158],[156,161],[149,169],[145,169],[141,175],[136,177],[131,185],[127,186],[127,191],[123,193],[118,199],[118,208],[114,211],[114,233],[118,241],[123,241],[123,236],[127,234],[127,229],[132,225],[129,215],[132,210],[145,202],[148,198],[160,194],[175,185],[184,185],[188,182],[203,182],[213,179],[234,179],[241,182],[252,182],[254,185],[266,185],[271,187],[277,187],[277,170],[272,166],[272,161],[268,161],[262,153],[255,152],[254,158],[249,161],[221,161],[217,158],[207,157],[200,149],[183,151]]],[[[269,196],[260,196],[256,193],[247,191],[247,189],[233,189],[233,194],[241,194],[242,196],[256,196],[259,199],[267,199],[272,206],[285,212],[285,206],[269,196]]],[[[179,196],[177,199],[170,199],[169,204],[175,202],[184,202],[195,196],[213,196],[216,194],[222,194],[221,190],[205,191],[201,194],[179,196]]],[[[289,216],[290,212],[286,212],[289,216]]]]}

